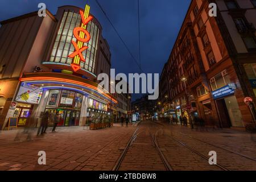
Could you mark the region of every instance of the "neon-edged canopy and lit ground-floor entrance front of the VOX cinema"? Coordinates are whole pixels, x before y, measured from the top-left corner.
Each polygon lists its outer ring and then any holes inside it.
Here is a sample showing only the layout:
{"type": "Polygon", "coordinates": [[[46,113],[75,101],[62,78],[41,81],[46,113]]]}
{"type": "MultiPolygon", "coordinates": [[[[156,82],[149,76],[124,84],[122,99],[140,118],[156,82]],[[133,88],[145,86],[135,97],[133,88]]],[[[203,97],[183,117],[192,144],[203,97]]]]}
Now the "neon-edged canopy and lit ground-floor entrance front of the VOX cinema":
{"type": "MultiPolygon", "coordinates": [[[[84,126],[89,115],[107,115],[108,103],[117,103],[107,92],[98,89],[97,83],[73,75],[52,72],[26,73],[9,109],[10,118],[17,126],[26,126],[28,118],[39,126],[42,114],[49,112],[49,126],[56,113],[60,114],[57,126],[84,126]]],[[[7,122],[5,122],[5,126],[7,122]]]]}

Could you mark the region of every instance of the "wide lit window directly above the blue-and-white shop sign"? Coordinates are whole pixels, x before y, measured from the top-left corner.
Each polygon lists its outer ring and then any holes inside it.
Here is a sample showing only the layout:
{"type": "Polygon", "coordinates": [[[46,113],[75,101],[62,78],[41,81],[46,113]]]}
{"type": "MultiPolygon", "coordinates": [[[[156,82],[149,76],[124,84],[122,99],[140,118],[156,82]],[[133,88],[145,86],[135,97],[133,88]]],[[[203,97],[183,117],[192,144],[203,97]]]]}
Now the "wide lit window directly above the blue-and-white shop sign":
{"type": "Polygon", "coordinates": [[[218,73],[216,76],[210,79],[210,85],[212,86],[212,90],[216,90],[230,83],[230,79],[228,76],[228,72],[226,70],[218,73]]]}

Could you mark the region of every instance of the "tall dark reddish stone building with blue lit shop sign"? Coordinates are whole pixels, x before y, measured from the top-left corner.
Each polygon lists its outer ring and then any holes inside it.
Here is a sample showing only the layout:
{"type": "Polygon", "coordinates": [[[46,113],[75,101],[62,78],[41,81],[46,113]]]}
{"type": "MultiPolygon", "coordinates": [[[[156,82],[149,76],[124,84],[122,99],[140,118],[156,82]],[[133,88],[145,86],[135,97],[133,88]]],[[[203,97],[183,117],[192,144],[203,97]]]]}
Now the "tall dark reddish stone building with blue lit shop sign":
{"type": "Polygon", "coordinates": [[[255,15],[255,1],[191,2],[167,62],[171,117],[217,127],[253,121],[255,15]],[[217,16],[209,16],[209,3],[217,16]],[[251,109],[245,97],[253,98],[251,109]]]}

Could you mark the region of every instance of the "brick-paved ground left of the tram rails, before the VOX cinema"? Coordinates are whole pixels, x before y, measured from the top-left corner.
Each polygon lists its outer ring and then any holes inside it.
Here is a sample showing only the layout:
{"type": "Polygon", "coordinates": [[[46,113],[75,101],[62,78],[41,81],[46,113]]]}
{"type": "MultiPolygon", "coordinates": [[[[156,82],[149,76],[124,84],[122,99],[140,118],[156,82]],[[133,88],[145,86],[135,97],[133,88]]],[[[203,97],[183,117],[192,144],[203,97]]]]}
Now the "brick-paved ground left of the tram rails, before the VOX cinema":
{"type": "Polygon", "coordinates": [[[0,170],[111,170],[135,127],[57,127],[27,141],[23,130],[0,133],[0,170]],[[14,141],[19,133],[19,141],[14,141]],[[38,151],[46,151],[46,165],[38,164],[38,151]]]}

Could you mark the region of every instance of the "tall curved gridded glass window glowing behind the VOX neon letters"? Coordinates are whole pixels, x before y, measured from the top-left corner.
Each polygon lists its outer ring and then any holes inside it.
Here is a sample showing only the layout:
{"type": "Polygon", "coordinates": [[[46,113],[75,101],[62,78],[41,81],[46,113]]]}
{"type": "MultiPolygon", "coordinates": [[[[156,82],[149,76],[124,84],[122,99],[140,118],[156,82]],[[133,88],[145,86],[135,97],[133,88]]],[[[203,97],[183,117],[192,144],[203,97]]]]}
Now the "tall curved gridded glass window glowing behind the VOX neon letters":
{"type": "MultiPolygon", "coordinates": [[[[72,59],[68,55],[75,51],[71,43],[72,40],[76,42],[76,38],[73,36],[73,29],[79,27],[80,24],[81,17],[79,14],[71,11],[66,11],[63,14],[49,61],[64,64],[72,63],[72,59]]],[[[82,55],[85,57],[85,63],[81,61],[80,65],[81,68],[94,73],[100,29],[91,21],[88,23],[86,30],[90,33],[90,41],[89,43],[85,43],[84,46],[88,46],[89,48],[82,52],[82,55]]]]}

